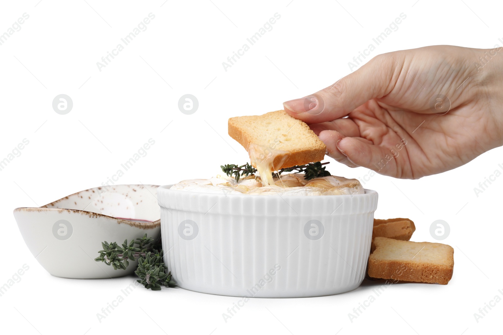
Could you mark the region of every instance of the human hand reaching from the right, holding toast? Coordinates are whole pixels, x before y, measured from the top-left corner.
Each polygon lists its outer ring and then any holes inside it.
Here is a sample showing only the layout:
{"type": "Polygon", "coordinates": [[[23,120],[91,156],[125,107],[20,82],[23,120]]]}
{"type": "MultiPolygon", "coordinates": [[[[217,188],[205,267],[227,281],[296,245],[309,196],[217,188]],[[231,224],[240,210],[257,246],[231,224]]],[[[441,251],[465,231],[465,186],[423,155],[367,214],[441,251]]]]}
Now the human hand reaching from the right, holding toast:
{"type": "Polygon", "coordinates": [[[378,55],[284,108],[350,167],[409,179],[448,171],[503,145],[502,50],[430,46],[378,55]]]}

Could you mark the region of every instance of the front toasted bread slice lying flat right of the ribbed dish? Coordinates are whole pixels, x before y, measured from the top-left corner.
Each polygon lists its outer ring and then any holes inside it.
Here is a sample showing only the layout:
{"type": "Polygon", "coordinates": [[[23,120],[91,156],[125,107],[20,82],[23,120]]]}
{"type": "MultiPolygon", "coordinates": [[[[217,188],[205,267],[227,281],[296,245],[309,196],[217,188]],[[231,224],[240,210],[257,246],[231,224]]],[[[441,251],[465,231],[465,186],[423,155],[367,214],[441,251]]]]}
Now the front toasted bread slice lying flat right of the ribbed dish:
{"type": "Polygon", "coordinates": [[[367,268],[370,277],[442,285],[452,278],[454,249],[451,246],[384,237],[376,237],[373,245],[367,268]]]}

